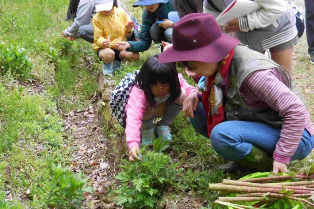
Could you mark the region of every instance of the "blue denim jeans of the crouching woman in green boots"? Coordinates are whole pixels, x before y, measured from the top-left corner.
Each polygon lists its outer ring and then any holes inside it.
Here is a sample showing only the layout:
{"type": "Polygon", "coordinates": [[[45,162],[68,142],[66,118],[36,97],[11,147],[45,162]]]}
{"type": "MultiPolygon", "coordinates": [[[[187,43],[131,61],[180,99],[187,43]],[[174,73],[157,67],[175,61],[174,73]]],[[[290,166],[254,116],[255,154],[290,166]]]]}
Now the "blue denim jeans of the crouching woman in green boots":
{"type": "MultiPolygon", "coordinates": [[[[208,137],[207,115],[202,103],[190,118],[193,128],[208,137]]],[[[245,158],[252,150],[252,145],[259,147],[271,156],[280,138],[280,128],[274,128],[266,123],[250,121],[226,121],[214,127],[210,134],[211,145],[215,151],[231,160],[245,158]]],[[[291,157],[292,160],[304,159],[314,147],[314,136],[304,129],[300,144],[291,157]]]]}

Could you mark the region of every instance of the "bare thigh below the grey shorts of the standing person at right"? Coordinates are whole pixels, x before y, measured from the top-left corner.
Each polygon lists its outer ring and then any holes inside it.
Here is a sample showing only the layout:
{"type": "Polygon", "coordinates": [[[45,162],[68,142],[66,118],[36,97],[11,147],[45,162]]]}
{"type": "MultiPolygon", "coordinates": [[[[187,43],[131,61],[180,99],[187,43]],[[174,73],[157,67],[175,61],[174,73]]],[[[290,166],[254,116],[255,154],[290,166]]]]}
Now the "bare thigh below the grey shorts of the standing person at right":
{"type": "Polygon", "coordinates": [[[284,67],[292,75],[292,51],[293,47],[287,50],[270,52],[272,60],[284,67]]]}

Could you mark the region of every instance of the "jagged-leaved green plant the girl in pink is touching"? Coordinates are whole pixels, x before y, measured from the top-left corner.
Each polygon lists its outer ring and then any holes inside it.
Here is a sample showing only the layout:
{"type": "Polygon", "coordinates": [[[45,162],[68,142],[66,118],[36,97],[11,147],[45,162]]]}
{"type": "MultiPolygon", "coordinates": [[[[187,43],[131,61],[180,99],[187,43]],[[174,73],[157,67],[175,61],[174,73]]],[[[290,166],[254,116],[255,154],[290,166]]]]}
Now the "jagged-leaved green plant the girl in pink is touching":
{"type": "Polygon", "coordinates": [[[116,175],[121,186],[114,192],[117,205],[126,208],[153,208],[167,186],[175,184],[178,164],[171,163],[171,157],[156,151],[141,149],[142,161],[129,162],[121,159],[124,169],[116,175]]]}

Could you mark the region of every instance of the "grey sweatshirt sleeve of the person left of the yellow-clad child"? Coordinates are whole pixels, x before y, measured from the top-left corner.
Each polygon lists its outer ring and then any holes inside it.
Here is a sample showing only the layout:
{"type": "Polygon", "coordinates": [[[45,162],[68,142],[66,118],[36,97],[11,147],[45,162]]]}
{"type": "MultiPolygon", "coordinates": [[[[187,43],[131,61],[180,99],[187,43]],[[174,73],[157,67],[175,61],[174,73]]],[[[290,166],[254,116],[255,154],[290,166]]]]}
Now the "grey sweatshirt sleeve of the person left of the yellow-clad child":
{"type": "Polygon", "coordinates": [[[73,24],[64,30],[64,35],[76,36],[78,37],[78,28],[82,25],[87,25],[90,23],[92,18],[92,13],[94,9],[94,4],[89,0],[81,0],[78,5],[78,10],[76,12],[76,18],[73,24]]]}

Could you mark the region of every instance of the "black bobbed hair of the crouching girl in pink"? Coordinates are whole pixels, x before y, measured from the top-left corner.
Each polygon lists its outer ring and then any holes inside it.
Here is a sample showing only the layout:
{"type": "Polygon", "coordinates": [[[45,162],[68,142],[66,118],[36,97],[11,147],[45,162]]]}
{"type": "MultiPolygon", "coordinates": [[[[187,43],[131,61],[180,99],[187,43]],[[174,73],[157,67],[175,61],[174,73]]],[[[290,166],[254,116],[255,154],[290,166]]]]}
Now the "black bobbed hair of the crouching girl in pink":
{"type": "Polygon", "coordinates": [[[160,63],[158,55],[149,56],[139,73],[135,77],[136,86],[144,91],[145,97],[151,107],[156,107],[154,95],[150,85],[157,82],[170,84],[170,101],[173,102],[181,95],[180,81],[175,63],[160,63]]]}

